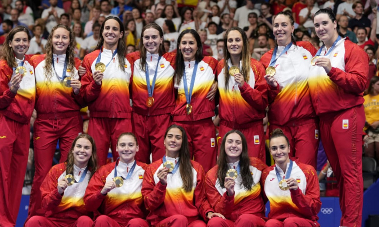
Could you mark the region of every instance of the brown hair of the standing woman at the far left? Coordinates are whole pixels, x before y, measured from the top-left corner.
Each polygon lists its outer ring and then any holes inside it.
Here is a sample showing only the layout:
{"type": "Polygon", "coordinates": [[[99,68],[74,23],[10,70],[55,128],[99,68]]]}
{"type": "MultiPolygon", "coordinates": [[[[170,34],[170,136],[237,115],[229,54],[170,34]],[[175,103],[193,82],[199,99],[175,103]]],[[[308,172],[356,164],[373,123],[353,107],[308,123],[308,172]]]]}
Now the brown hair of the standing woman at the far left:
{"type": "Polygon", "coordinates": [[[24,26],[16,26],[14,29],[12,29],[9,34],[5,38],[5,42],[2,46],[2,59],[6,61],[6,64],[9,67],[17,67],[16,59],[14,58],[14,53],[12,47],[9,46],[9,42],[12,42],[14,35],[17,32],[25,32],[28,35],[28,41],[30,42],[30,33],[27,28],[24,26]]]}

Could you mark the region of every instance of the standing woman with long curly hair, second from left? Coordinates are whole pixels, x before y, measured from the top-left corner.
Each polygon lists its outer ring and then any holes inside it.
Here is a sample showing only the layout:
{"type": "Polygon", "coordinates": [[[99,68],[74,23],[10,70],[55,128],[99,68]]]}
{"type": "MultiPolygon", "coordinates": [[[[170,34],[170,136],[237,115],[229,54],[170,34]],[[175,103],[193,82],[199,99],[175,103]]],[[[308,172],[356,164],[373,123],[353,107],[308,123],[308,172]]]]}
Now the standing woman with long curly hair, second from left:
{"type": "Polygon", "coordinates": [[[77,73],[80,60],[74,54],[72,30],[54,26],[46,44],[46,54],[31,61],[36,73],[36,110],[34,123],[34,160],[36,172],[30,196],[28,218],[43,215],[39,187],[51,168],[59,142],[60,162],[67,160],[71,143],[83,132],[80,109],[85,106],[77,73]]]}

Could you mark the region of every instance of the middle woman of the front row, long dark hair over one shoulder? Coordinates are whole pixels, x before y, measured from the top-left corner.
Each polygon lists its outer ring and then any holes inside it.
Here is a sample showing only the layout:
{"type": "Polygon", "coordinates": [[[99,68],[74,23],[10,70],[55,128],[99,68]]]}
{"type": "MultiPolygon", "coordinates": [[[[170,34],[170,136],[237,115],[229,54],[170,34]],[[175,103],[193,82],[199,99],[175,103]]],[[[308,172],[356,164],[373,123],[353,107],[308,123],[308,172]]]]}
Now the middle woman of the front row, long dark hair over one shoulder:
{"type": "Polygon", "coordinates": [[[205,227],[214,213],[204,191],[204,171],[189,159],[186,131],[170,126],[164,135],[166,155],[152,162],[145,172],[142,195],[154,227],[205,227]]]}

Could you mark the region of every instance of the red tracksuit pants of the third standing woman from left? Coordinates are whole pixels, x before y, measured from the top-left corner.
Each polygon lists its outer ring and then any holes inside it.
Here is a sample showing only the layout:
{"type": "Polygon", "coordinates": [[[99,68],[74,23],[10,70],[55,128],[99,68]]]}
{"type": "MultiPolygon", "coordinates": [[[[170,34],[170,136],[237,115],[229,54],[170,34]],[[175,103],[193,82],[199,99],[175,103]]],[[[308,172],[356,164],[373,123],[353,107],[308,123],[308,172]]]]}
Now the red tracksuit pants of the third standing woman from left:
{"type": "Polygon", "coordinates": [[[107,163],[110,145],[113,160],[116,161],[118,158],[118,152],[116,151],[117,139],[123,132],[132,132],[130,119],[89,118],[88,134],[95,140],[99,166],[103,166],[107,163]]]}

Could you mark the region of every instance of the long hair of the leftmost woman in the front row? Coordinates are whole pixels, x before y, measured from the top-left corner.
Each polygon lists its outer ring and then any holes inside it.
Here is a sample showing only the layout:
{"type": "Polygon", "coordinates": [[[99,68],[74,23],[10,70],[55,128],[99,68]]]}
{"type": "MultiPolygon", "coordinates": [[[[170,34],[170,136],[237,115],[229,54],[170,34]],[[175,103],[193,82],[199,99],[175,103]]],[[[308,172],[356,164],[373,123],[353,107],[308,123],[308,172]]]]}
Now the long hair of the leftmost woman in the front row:
{"type": "Polygon", "coordinates": [[[97,165],[97,152],[96,152],[96,144],[95,140],[88,134],[80,134],[76,136],[73,144],[71,145],[71,149],[69,151],[69,155],[67,156],[67,165],[66,165],[66,174],[71,174],[74,172],[74,148],[76,145],[76,141],[80,138],[85,138],[87,139],[91,145],[92,145],[92,155],[91,158],[88,160],[88,170],[91,171],[91,177],[92,175],[96,172],[98,169],[97,165]]]}

